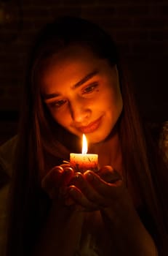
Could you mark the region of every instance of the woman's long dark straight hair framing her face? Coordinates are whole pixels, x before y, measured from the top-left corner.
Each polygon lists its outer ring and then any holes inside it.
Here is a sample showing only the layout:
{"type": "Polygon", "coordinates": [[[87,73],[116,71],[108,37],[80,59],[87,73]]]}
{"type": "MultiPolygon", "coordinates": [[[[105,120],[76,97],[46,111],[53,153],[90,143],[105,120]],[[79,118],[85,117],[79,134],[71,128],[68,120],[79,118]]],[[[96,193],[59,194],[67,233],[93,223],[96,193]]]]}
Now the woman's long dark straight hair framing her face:
{"type": "Polygon", "coordinates": [[[154,238],[161,245],[161,234],[164,236],[168,229],[167,219],[164,219],[164,213],[168,213],[168,197],[161,191],[167,196],[168,176],[162,176],[164,164],[158,152],[153,150],[151,141],[147,140],[149,137],[145,136],[116,45],[94,23],[82,18],[63,17],[42,29],[31,52],[12,177],[7,256],[31,253],[50,206],[49,198],[41,190],[41,177],[53,165],[68,159],[72,147],[78,151],[78,138],[53,121],[39,89],[39,75],[47,61],[68,45],[87,47],[119,69],[124,101],[119,119],[124,169],[128,181],[139,193],[146,213],[153,219],[154,238]],[[72,137],[73,145],[70,143],[72,137]]]}

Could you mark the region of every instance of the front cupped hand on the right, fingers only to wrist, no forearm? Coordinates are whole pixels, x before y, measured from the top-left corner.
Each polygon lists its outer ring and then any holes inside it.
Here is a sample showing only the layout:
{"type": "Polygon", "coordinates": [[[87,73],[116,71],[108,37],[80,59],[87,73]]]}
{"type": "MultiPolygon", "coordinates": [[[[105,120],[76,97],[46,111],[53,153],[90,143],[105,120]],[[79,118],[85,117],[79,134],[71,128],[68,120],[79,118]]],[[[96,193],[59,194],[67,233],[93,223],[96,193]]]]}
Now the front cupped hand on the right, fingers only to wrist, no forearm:
{"type": "Polygon", "coordinates": [[[106,208],[116,200],[119,203],[124,191],[124,182],[111,166],[103,167],[98,173],[88,170],[75,173],[71,178],[68,194],[87,211],[106,208]]]}

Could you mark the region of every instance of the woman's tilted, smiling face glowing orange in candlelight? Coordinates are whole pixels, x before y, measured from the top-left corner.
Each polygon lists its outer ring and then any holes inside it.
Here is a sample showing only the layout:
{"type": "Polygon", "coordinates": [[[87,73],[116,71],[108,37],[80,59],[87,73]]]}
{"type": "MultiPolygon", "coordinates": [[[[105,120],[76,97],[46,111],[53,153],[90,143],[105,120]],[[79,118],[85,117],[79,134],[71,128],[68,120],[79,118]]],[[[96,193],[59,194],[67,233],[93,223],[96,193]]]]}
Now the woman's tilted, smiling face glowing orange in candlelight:
{"type": "Polygon", "coordinates": [[[53,57],[41,76],[41,94],[52,117],[91,143],[105,140],[123,107],[116,66],[86,48],[71,46],[53,57]]]}

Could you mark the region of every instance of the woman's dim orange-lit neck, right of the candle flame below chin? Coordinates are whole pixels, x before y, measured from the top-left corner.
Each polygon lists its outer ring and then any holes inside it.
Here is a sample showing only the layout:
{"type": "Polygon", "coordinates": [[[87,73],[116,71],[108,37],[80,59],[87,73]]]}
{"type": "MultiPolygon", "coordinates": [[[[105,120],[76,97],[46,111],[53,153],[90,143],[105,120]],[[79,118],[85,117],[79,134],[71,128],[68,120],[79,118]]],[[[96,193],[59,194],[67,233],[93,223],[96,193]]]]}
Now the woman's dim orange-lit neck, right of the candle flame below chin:
{"type": "Polygon", "coordinates": [[[118,132],[109,136],[103,142],[92,144],[89,147],[90,153],[98,154],[99,167],[104,165],[111,165],[114,169],[122,173],[122,157],[121,157],[121,144],[119,141],[118,132]]]}

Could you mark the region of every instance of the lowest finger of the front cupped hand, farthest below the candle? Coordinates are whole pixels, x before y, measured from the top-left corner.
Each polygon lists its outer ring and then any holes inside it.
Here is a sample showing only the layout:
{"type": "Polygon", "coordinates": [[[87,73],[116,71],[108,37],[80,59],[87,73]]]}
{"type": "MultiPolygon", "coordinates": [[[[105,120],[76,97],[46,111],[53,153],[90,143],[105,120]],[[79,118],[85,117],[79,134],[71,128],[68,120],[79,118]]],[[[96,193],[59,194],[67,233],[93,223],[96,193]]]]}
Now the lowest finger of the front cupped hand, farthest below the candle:
{"type": "Polygon", "coordinates": [[[81,193],[80,189],[75,186],[68,187],[68,193],[73,199],[73,201],[81,206],[85,211],[95,211],[97,210],[97,205],[90,202],[84,194],[81,193]]]}

